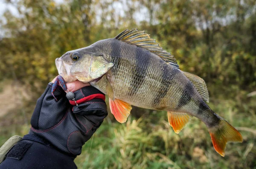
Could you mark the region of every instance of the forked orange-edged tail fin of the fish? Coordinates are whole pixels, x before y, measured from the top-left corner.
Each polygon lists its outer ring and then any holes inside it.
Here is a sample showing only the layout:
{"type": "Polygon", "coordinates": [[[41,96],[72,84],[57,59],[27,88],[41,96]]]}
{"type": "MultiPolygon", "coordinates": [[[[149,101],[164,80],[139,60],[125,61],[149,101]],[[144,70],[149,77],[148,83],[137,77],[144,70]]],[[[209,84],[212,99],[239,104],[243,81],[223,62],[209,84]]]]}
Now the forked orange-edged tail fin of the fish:
{"type": "Polygon", "coordinates": [[[225,156],[227,142],[242,142],[243,138],[239,131],[231,126],[227,121],[221,119],[217,127],[209,129],[212,138],[212,144],[222,157],[225,156]]]}

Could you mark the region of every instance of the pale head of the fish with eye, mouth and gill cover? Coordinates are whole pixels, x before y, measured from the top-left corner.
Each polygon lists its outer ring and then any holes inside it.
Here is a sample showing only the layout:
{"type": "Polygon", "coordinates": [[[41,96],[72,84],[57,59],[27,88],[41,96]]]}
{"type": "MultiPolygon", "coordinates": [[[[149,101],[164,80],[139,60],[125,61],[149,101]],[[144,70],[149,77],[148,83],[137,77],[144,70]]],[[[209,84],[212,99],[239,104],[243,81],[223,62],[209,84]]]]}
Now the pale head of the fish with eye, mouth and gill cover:
{"type": "Polygon", "coordinates": [[[105,54],[91,52],[86,48],[69,51],[55,60],[58,73],[66,82],[73,82],[76,79],[87,83],[99,79],[113,63],[108,62],[105,54]]]}

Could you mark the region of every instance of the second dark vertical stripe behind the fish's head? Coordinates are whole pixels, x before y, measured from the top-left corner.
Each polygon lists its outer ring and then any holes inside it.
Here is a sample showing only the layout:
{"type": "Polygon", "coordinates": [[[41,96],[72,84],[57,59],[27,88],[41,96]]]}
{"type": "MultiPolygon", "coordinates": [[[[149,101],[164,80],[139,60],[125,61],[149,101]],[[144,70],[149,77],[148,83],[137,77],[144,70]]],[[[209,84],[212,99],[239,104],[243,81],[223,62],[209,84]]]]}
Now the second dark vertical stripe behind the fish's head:
{"type": "Polygon", "coordinates": [[[133,96],[138,92],[140,87],[145,82],[145,76],[148,70],[148,64],[150,61],[150,53],[148,51],[142,50],[142,48],[136,47],[136,65],[133,70],[132,81],[130,84],[130,90],[128,95],[133,96]]]}

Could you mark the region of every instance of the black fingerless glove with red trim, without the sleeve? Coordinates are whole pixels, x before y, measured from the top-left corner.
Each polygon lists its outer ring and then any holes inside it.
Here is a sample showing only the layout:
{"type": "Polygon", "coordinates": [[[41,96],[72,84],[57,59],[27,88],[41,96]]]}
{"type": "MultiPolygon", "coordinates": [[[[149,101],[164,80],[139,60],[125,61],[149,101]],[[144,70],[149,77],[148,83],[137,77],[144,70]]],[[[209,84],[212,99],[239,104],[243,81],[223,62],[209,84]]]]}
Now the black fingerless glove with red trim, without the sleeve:
{"type": "Polygon", "coordinates": [[[108,115],[105,95],[87,86],[74,92],[76,102],[69,101],[64,90],[58,87],[54,92],[56,101],[51,88],[52,83],[49,83],[38,99],[31,118],[31,130],[23,139],[44,142],[75,157],[81,154],[84,143],[108,115]]]}

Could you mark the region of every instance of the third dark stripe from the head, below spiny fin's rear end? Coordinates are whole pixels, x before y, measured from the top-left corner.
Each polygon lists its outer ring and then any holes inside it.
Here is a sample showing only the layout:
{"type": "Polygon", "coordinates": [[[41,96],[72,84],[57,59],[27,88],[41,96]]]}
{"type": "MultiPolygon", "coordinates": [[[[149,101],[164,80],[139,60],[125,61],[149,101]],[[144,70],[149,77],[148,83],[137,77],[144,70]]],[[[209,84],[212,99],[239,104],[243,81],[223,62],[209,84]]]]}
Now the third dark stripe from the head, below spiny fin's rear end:
{"type": "Polygon", "coordinates": [[[163,71],[162,71],[162,76],[161,76],[161,85],[160,88],[158,90],[158,94],[157,96],[155,96],[154,100],[153,100],[153,106],[156,107],[157,109],[160,109],[160,107],[158,107],[158,104],[160,104],[160,102],[162,101],[162,99],[166,96],[168,90],[170,89],[170,87],[173,84],[173,79],[174,77],[179,73],[180,71],[177,70],[176,68],[173,68],[172,71],[170,71],[169,69],[169,65],[167,65],[166,63],[164,63],[163,66],[163,71]],[[170,74],[172,73],[172,74],[170,74]]]}

